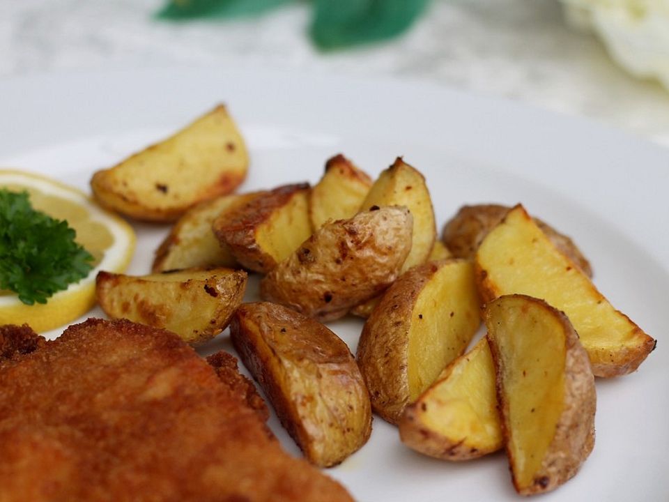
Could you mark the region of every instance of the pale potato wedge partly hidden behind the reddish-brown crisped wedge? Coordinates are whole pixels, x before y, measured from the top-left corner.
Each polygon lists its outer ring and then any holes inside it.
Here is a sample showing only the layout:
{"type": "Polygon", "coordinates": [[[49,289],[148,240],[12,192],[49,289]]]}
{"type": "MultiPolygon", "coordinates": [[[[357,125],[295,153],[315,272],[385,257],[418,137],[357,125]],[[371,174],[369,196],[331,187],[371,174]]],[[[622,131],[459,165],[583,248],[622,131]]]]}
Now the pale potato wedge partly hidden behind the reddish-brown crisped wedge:
{"type": "Polygon", "coordinates": [[[190,208],[155,251],[153,273],[180,268],[236,266],[237,260],[228,248],[220,245],[211,226],[216,218],[222,218],[260,193],[222,195],[190,208]]]}

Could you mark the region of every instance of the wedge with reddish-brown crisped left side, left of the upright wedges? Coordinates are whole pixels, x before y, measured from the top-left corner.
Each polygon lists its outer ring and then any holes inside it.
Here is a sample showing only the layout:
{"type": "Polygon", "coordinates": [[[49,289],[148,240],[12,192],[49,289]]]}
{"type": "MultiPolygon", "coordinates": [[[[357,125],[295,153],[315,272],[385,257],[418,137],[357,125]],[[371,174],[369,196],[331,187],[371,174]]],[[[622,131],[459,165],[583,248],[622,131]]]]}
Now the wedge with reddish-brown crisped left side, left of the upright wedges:
{"type": "Polygon", "coordinates": [[[222,246],[249,270],[267,273],[312,234],[309,184],[283,185],[216,218],[222,246]]]}

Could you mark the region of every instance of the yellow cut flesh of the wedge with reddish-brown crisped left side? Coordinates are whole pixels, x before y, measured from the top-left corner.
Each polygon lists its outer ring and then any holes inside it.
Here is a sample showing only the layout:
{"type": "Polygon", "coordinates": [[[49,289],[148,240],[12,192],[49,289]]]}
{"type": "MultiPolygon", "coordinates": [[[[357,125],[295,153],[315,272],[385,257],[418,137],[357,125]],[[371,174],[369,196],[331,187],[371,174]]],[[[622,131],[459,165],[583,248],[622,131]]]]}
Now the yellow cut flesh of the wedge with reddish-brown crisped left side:
{"type": "Polygon", "coordinates": [[[308,197],[308,190],[295,193],[288,204],[272,213],[256,231],[256,242],[277,264],[288,258],[312,234],[308,197]]]}

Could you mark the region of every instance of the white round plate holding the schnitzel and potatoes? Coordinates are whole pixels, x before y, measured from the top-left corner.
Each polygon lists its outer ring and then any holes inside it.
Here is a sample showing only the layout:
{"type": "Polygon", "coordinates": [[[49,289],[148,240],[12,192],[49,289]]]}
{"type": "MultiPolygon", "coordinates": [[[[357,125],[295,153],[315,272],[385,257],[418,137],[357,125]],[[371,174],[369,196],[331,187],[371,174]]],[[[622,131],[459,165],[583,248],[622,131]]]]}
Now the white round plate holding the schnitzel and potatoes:
{"type": "MultiPolygon", "coordinates": [[[[576,478],[541,500],[669,500],[669,151],[420,82],[181,68],[0,82],[0,165],[87,189],[94,169],[220,101],[252,155],[243,190],[315,182],[338,152],[371,174],[404,155],[426,175],[440,225],[464,203],[522,201],[571,234],[599,289],[659,343],[639,372],[597,381],[594,452],[576,478]]],[[[166,228],[137,230],[130,272],[146,273],[166,228]]],[[[331,327],[355,351],[362,322],[331,327]]],[[[207,350],[219,348],[231,349],[225,335],[207,350]]],[[[274,418],[270,425],[298,455],[274,418]]],[[[360,501],[519,499],[502,453],[461,464],[429,459],[403,447],[379,418],[367,446],[328,473],[360,501]]]]}

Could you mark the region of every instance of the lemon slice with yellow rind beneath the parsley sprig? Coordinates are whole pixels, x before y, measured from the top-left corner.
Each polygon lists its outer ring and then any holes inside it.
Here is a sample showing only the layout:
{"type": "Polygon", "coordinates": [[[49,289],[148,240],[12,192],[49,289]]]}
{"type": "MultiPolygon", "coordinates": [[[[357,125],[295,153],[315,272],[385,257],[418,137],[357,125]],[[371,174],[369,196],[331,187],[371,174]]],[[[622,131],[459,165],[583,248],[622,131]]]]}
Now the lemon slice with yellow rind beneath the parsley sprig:
{"type": "Polygon", "coordinates": [[[54,294],[45,304],[25,305],[13,291],[0,290],[0,324],[27,323],[41,333],[81,317],[95,305],[98,272],[123,272],[130,264],[135,245],[132,227],[100,208],[84,192],[45,176],[0,169],[0,188],[25,190],[33,208],[52,218],[68,220],[77,231],[77,243],[95,258],[89,275],[54,294]]]}

